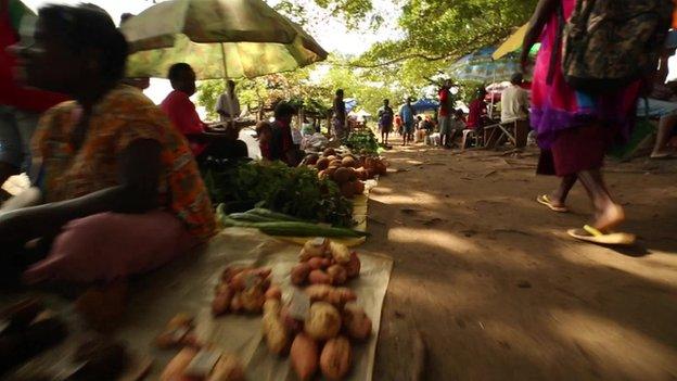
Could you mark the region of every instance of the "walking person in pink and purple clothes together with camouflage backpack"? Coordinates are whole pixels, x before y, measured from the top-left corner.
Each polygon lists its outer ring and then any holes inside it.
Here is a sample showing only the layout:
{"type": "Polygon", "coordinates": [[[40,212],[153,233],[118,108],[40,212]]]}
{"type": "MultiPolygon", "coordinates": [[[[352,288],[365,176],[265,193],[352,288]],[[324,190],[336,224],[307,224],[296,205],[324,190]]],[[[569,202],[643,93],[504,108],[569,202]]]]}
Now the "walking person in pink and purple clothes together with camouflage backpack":
{"type": "MultiPolygon", "coordinates": [[[[610,0],[600,1],[609,2],[610,0]]],[[[557,175],[561,178],[558,189],[538,195],[537,201],[552,211],[566,212],[565,201],[569,191],[576,181],[580,180],[595,207],[595,217],[583,229],[572,229],[569,234],[585,241],[629,244],[635,240],[631,234],[613,233],[614,228],[625,220],[625,211],[613,200],[602,177],[601,167],[610,143],[619,137],[628,137],[637,98],[642,86],[640,78],[649,76],[655,72],[656,67],[653,65],[651,68],[651,62],[646,67],[640,67],[639,61],[654,53],[657,58],[657,51],[663,47],[669,27],[674,4],[670,0],[647,0],[634,3],[636,4],[629,13],[614,15],[611,12],[614,12],[615,8],[589,9],[588,7],[592,4],[587,1],[576,3],[575,0],[540,0],[523,41],[521,61],[523,68],[526,68],[528,52],[542,36],[532,85],[531,124],[536,130],[538,144],[541,148],[537,172],[541,175],[557,175]],[[647,11],[649,8],[653,8],[651,13],[647,13],[651,14],[651,17],[633,20],[634,13],[647,11]],[[656,10],[659,12],[654,12],[656,10]],[[631,22],[625,23],[623,28],[605,34],[605,37],[597,38],[595,34],[598,30],[603,33],[606,29],[588,29],[585,20],[588,16],[606,21],[610,23],[606,25],[616,23],[618,16],[631,22]],[[563,24],[566,21],[567,26],[564,29],[563,24]],[[654,22],[652,26],[635,24],[651,21],[654,22]],[[642,27],[643,33],[636,33],[638,26],[642,27]],[[586,41],[578,40],[578,43],[593,42],[596,45],[572,46],[571,43],[574,43],[572,41],[576,41],[576,37],[579,37],[574,35],[576,31],[582,33],[585,36],[582,40],[586,41]],[[615,33],[628,35],[614,36],[615,33]],[[586,60],[579,62],[564,60],[562,48],[564,35],[566,35],[567,49],[587,48],[586,60]],[[609,38],[610,35],[612,38],[609,38]],[[614,54],[604,55],[610,47],[614,54]],[[654,52],[653,49],[656,51],[654,52]],[[619,54],[626,50],[641,51],[641,53],[636,58],[625,54],[622,63],[608,62],[609,56],[621,56],[619,54]],[[608,86],[599,86],[602,81],[592,75],[580,80],[576,80],[579,77],[571,75],[574,73],[572,63],[591,68],[598,62],[605,63],[600,67],[599,75],[613,74],[613,71],[621,68],[630,68],[635,73],[631,77],[625,78],[623,82],[609,81],[608,86]],[[567,74],[566,77],[565,74],[567,74]]],[[[604,25],[603,22],[599,24],[604,25]]],[[[570,52],[567,50],[567,54],[570,52]]]]}

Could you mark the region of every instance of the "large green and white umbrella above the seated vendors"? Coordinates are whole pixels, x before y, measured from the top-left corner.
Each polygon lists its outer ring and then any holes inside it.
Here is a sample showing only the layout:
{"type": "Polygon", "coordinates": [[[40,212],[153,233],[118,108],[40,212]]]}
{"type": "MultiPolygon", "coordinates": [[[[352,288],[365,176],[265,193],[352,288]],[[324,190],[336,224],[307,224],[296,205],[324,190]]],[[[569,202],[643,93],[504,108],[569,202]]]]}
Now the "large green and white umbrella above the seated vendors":
{"type": "Polygon", "coordinates": [[[129,77],[161,77],[177,62],[197,79],[254,78],[289,72],[328,53],[263,0],[171,0],[127,21],[129,77]]]}

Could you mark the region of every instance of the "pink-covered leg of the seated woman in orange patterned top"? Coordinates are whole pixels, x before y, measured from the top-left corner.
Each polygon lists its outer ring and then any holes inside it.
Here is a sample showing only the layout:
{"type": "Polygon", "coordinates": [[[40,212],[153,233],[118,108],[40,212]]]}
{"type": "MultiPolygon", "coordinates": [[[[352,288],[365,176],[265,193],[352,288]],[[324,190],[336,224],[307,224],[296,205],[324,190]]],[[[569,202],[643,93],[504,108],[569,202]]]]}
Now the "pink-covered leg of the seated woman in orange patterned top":
{"type": "Polygon", "coordinates": [[[114,280],[159,267],[193,243],[181,220],[167,212],[97,214],[67,224],[47,258],[29,267],[24,279],[114,280]]]}

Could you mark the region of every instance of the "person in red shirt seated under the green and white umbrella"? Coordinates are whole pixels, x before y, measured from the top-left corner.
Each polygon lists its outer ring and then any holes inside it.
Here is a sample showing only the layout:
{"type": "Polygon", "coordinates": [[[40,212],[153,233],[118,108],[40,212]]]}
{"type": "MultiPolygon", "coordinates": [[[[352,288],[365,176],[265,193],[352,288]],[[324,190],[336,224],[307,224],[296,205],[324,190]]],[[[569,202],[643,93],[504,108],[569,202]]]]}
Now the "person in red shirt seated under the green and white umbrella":
{"type": "Polygon", "coordinates": [[[228,128],[222,136],[207,136],[209,127],[200,119],[195,104],[190,97],[195,93],[195,72],[187,63],[176,63],[167,75],[174,91],[161,103],[176,128],[188,139],[197,163],[203,164],[208,157],[238,158],[248,155],[246,143],[238,140],[238,130],[228,128]]]}

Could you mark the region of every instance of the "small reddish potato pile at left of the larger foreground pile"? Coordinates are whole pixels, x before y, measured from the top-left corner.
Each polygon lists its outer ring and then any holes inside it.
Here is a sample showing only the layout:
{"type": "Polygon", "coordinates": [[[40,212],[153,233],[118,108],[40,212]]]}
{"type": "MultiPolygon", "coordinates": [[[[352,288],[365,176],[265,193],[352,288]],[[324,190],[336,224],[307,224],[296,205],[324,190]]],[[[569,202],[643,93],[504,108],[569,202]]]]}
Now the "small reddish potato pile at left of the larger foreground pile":
{"type": "Polygon", "coordinates": [[[280,288],[270,282],[270,268],[228,267],[214,290],[212,314],[260,314],[266,297],[279,297],[280,288]]]}

